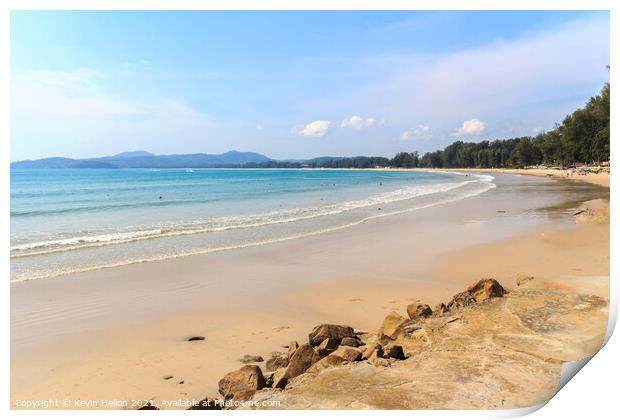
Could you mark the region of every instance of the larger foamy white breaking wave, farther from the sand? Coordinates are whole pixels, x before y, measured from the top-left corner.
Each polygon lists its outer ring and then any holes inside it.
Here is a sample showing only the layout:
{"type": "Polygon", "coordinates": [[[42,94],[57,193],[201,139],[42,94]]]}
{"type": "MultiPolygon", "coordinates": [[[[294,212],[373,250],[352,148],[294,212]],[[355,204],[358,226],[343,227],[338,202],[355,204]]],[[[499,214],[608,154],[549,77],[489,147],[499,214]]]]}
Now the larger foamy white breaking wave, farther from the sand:
{"type": "Polygon", "coordinates": [[[474,179],[468,181],[408,186],[372,195],[361,200],[344,201],[325,206],[292,208],[257,215],[204,219],[171,225],[144,226],[113,233],[79,235],[61,239],[19,243],[11,247],[11,258],[24,258],[180,235],[204,234],[292,223],[317,217],[337,215],[365,207],[410,200],[430,194],[445,193],[476,182],[487,184],[492,180],[492,176],[476,175],[474,179]]]}

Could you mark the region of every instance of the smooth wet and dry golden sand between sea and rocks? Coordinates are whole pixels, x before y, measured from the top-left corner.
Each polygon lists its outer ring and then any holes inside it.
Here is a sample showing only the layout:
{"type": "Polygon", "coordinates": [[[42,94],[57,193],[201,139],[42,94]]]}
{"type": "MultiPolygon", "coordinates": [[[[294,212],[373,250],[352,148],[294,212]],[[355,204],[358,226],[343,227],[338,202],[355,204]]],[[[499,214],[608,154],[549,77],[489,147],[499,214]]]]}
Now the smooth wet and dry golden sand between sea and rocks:
{"type": "Polygon", "coordinates": [[[608,218],[573,217],[583,202],[605,206],[608,176],[523,173],[540,177],[498,171],[479,196],[330,233],[14,283],[12,406],[201,399],[244,355],[267,359],[322,322],[376,329],[481,277],[608,276],[608,218]],[[535,191],[549,199],[533,204],[535,191]]]}

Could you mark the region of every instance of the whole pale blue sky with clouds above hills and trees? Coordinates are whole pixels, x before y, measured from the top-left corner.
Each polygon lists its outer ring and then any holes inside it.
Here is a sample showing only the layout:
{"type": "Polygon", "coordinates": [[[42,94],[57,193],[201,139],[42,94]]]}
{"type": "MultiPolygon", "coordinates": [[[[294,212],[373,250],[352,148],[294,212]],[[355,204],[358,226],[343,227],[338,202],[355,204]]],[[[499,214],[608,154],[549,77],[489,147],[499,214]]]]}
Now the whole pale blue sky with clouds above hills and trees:
{"type": "Polygon", "coordinates": [[[11,160],[535,135],[600,91],[609,56],[608,12],[12,12],[11,160]]]}

